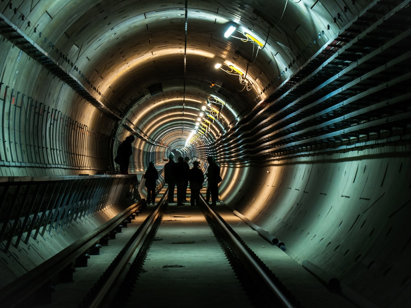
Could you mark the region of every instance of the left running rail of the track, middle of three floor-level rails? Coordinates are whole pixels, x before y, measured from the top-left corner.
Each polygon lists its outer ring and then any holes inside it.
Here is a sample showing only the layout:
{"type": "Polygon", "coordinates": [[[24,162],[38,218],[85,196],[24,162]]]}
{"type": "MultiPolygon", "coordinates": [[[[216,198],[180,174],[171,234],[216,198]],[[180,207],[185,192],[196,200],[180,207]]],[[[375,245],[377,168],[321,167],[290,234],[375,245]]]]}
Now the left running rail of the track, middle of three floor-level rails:
{"type": "Polygon", "coordinates": [[[136,237],[136,239],[133,241],[133,243],[131,244],[131,246],[127,249],[127,252],[125,253],[125,255],[122,257],[122,259],[120,260],[120,262],[117,264],[117,266],[115,267],[113,273],[110,275],[109,279],[106,281],[106,283],[104,283],[104,285],[102,286],[102,288],[100,289],[100,291],[98,292],[97,296],[94,298],[94,300],[92,301],[92,303],[90,304],[90,306],[88,306],[89,308],[98,308],[100,306],[100,304],[102,303],[102,301],[104,300],[104,298],[106,297],[106,295],[109,293],[109,290],[111,289],[111,287],[113,286],[113,284],[116,282],[116,280],[118,279],[118,277],[120,276],[120,274],[122,273],[122,271],[124,270],[125,266],[128,264],[128,262],[130,261],[130,258],[132,257],[132,255],[134,254],[134,251],[136,250],[136,248],[139,246],[141,240],[143,239],[143,237],[145,236],[145,233],[147,232],[147,230],[152,226],[152,224],[154,223],[155,218],[157,217],[157,215],[159,214],[160,209],[167,204],[167,196],[169,193],[169,188],[166,189],[164,195],[162,195],[160,201],[157,204],[156,209],[154,210],[154,212],[151,214],[149,220],[147,221],[147,223],[144,225],[143,229],[141,230],[141,232],[139,233],[139,235],[136,237]]]}

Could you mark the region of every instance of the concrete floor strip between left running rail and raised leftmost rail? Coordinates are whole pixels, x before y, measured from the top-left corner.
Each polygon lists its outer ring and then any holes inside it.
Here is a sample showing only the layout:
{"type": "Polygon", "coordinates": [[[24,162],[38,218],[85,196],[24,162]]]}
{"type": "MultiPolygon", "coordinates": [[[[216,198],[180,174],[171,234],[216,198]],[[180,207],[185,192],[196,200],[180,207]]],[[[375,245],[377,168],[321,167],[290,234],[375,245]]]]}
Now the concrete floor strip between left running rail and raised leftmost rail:
{"type": "Polygon", "coordinates": [[[154,205],[147,206],[143,213],[127,224],[127,228],[122,228],[122,232],[116,234],[115,239],[109,240],[109,246],[100,248],[99,255],[91,255],[90,259],[88,259],[87,267],[76,267],[76,272],[73,273],[73,282],[58,283],[55,286],[55,292],[52,294],[52,303],[42,307],[77,308],[85,295],[99,280],[100,276],[154,208],[154,205]]]}

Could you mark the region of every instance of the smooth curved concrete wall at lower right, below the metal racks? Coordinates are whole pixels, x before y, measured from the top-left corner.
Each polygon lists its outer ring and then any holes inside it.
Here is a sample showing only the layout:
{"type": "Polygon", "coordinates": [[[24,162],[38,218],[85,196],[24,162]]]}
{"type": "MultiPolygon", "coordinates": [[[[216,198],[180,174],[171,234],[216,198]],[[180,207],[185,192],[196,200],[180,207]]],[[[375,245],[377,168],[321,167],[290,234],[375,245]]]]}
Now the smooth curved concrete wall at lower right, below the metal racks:
{"type": "Polygon", "coordinates": [[[389,143],[254,164],[247,174],[226,168],[233,175],[226,181],[241,184],[220,194],[300,264],[313,262],[378,306],[403,307],[411,272],[409,151],[407,143],[389,143]]]}

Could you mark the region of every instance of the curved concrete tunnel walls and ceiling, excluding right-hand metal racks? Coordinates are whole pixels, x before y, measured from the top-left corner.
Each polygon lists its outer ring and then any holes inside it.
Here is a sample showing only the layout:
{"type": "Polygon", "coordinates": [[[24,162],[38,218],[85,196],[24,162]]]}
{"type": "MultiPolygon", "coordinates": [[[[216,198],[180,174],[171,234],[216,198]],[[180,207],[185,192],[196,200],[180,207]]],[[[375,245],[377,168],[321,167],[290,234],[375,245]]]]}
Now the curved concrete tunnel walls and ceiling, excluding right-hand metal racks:
{"type": "MultiPolygon", "coordinates": [[[[13,3],[12,9],[9,3],[0,3],[2,14],[121,120],[100,112],[89,103],[90,97],[85,100],[41,61],[3,38],[3,176],[113,170],[116,149],[129,129],[142,137],[133,143],[129,171],[143,171],[149,161],[160,163],[172,149],[184,147],[207,99],[218,97],[226,103],[219,109],[224,124],[214,122],[204,138],[180,149],[183,156],[205,166],[209,154],[229,152],[230,134],[248,123],[247,115],[270,117],[261,109],[272,102],[270,95],[285,93],[283,88],[295,83],[293,74],[304,67],[321,65],[314,55],[376,2],[289,1],[280,20],[285,1],[190,1],[184,109],[181,3],[161,2],[164,11],[151,1],[136,6],[131,0],[118,4],[23,0],[13,3]],[[252,66],[248,65],[252,48],[223,37],[222,28],[233,20],[244,29],[253,28],[261,41],[267,38],[267,48],[252,66]],[[253,83],[250,91],[240,91],[237,76],[215,70],[217,62],[225,61],[247,71],[253,83]],[[221,141],[223,149],[213,147],[216,141],[221,141]]],[[[395,69],[407,73],[408,65],[405,62],[395,69]]],[[[408,89],[404,83],[402,91],[408,89]]],[[[394,113],[404,110],[401,106],[394,113]]],[[[244,130],[252,131],[254,124],[244,130]]],[[[409,125],[401,125],[406,136],[409,125]]],[[[387,138],[392,136],[390,129],[385,129],[387,138]]],[[[350,142],[363,136],[344,138],[350,142]]],[[[240,146],[237,149],[243,151],[240,146]]],[[[226,161],[219,159],[221,199],[278,236],[298,262],[314,262],[381,306],[400,305],[406,300],[411,275],[405,257],[410,236],[405,221],[410,197],[409,145],[391,142],[328,154],[305,150],[296,147],[261,160],[236,159],[234,154],[226,161]],[[299,156],[287,156],[296,152],[299,156]]]]}

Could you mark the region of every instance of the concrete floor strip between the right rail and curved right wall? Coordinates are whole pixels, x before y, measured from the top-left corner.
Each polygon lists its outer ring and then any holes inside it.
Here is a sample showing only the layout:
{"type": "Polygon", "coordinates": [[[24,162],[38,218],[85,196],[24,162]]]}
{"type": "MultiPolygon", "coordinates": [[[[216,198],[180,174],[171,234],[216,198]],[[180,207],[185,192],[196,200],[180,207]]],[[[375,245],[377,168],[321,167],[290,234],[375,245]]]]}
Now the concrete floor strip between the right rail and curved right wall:
{"type": "Polygon", "coordinates": [[[213,207],[231,228],[245,241],[254,253],[287,287],[291,294],[306,308],[333,307],[355,308],[353,304],[330,292],[317,278],[312,276],[298,262],[294,261],[277,246],[270,245],[265,239],[235,216],[226,207],[213,207]]]}

